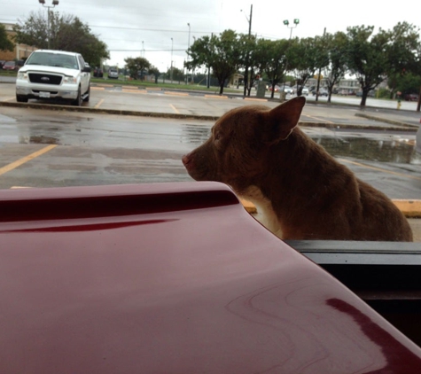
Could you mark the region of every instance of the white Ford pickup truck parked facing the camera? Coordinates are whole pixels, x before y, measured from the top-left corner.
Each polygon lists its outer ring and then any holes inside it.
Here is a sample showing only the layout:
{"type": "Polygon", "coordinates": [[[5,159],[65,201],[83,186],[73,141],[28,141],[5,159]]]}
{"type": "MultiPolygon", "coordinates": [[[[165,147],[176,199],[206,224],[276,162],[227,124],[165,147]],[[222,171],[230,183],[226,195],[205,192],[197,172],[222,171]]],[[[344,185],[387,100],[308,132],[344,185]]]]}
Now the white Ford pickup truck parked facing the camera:
{"type": "Polygon", "coordinates": [[[90,100],[90,66],[82,55],[67,51],[37,50],[19,69],[16,100],[64,99],[72,105],[90,100]]]}

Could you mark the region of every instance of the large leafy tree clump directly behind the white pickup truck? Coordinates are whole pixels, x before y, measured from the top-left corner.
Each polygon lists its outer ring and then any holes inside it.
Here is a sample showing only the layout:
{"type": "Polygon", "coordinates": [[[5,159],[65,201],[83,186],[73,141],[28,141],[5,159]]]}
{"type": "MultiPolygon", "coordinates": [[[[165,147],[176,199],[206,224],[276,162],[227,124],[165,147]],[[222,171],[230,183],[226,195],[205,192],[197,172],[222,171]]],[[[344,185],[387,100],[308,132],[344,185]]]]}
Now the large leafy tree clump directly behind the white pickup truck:
{"type": "Polygon", "coordinates": [[[110,58],[106,44],[92,34],[88,24],[73,15],[48,12],[48,17],[42,11],[31,12],[14,25],[14,41],[40,49],[48,49],[50,41],[51,50],[79,52],[90,66],[100,66],[102,59],[110,58]]]}

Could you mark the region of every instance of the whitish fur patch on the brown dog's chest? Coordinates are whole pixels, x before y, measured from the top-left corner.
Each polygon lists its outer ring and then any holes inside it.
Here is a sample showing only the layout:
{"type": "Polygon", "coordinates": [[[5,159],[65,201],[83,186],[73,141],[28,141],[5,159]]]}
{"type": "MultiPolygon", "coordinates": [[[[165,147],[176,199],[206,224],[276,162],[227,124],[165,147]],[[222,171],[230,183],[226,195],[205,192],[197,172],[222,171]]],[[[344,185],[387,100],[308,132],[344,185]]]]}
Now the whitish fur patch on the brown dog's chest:
{"type": "Polygon", "coordinates": [[[266,229],[272,231],[278,238],[282,239],[282,230],[277,219],[277,214],[272,207],[272,202],[266,198],[261,189],[256,186],[250,186],[247,190],[241,194],[241,197],[252,202],[257,209],[257,214],[254,217],[257,221],[266,227],[266,229]]]}

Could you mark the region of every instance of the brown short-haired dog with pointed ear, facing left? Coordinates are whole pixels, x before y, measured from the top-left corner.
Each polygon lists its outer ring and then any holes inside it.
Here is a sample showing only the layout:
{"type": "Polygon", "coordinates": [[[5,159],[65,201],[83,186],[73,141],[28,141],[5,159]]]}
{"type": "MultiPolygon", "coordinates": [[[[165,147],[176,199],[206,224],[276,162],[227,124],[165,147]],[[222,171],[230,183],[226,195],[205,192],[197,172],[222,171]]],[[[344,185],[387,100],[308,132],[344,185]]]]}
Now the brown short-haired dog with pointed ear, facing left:
{"type": "Polygon", "coordinates": [[[304,97],[224,114],[183,156],[198,181],[227,183],[284,239],[412,241],[394,203],[339,164],[298,127],[304,97]]]}

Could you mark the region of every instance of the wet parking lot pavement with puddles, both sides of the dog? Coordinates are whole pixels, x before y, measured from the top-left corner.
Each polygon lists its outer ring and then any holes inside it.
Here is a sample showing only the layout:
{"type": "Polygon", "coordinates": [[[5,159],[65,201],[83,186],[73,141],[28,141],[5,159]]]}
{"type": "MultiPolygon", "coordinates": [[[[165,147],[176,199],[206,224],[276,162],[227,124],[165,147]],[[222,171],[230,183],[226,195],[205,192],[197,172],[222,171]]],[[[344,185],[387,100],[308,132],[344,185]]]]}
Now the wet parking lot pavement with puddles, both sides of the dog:
{"type": "MultiPolygon", "coordinates": [[[[5,107],[0,113],[2,189],[191,181],[181,157],[214,123],[5,107]]],[[[421,199],[414,132],[304,129],[392,199],[421,199]]]]}

